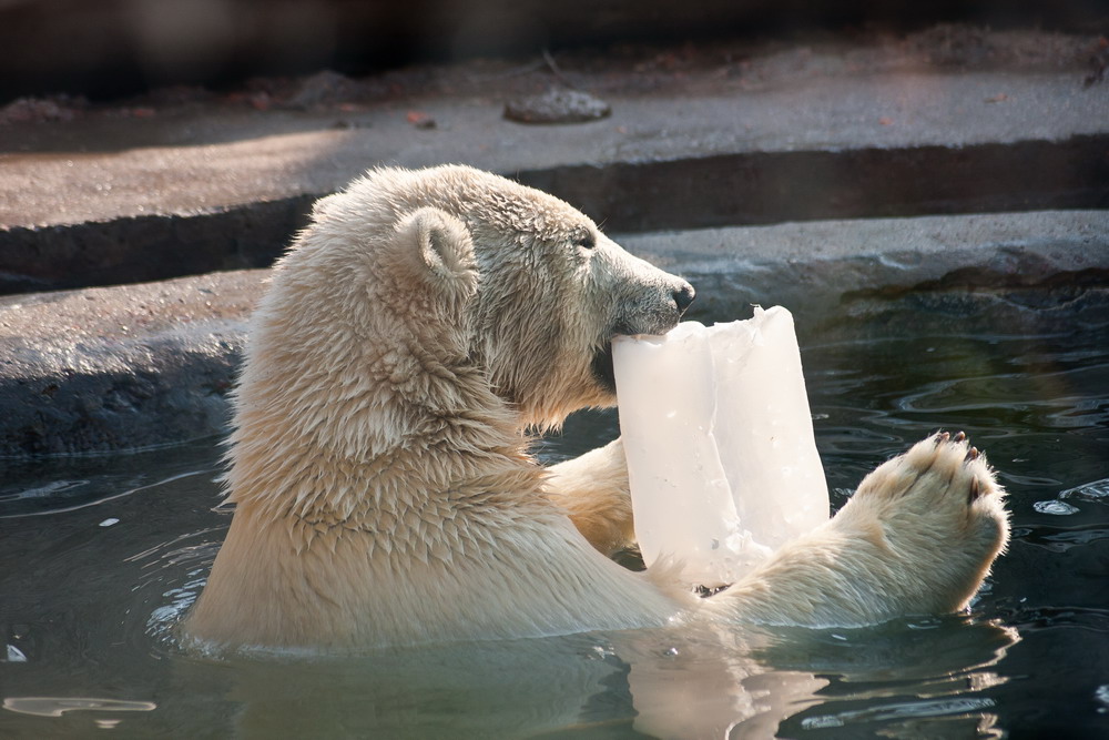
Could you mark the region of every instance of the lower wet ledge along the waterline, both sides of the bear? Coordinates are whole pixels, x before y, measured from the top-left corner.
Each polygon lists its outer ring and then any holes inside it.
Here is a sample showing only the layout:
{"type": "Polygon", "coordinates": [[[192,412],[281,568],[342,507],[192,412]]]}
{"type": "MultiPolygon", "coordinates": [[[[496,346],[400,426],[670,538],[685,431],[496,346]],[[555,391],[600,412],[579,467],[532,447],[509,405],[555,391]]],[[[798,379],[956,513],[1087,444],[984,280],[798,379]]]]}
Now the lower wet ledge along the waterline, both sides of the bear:
{"type": "MultiPolygon", "coordinates": [[[[751,303],[781,304],[798,316],[803,338],[858,297],[1109,285],[1109,211],[787,223],[618,241],[694,282],[693,318],[742,317],[751,303]]],[[[225,430],[250,306],[267,274],[0,301],[0,357],[9,358],[0,361],[0,458],[135,449],[225,430]],[[50,327],[59,314],[81,321],[90,294],[106,308],[100,328],[82,339],[31,331],[50,327]],[[159,304],[155,294],[186,296],[180,301],[191,308],[179,318],[182,304],[159,304]],[[120,334],[116,325],[147,313],[149,328],[123,326],[120,334]]]]}

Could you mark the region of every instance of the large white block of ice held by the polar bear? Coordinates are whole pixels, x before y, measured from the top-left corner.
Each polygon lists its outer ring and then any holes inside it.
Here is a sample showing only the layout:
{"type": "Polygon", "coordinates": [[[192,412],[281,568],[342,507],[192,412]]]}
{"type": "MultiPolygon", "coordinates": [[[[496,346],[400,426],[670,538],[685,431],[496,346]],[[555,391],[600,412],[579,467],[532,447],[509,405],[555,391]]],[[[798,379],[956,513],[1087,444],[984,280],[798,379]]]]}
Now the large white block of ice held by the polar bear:
{"type": "Polygon", "coordinates": [[[635,535],[648,566],[740,578],[828,517],[793,316],[679,324],[612,343],[635,535]]]}

